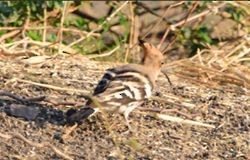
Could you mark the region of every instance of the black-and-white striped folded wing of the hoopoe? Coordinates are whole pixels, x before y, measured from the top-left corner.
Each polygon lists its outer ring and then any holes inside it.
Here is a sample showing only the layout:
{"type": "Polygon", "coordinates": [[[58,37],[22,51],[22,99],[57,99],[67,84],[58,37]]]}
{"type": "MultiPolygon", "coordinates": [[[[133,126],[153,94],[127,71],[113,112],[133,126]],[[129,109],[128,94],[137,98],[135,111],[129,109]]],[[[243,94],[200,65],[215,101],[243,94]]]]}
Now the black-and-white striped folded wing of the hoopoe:
{"type": "Polygon", "coordinates": [[[133,68],[109,69],[94,90],[103,106],[116,110],[118,106],[127,106],[149,98],[152,83],[146,74],[133,68]]]}

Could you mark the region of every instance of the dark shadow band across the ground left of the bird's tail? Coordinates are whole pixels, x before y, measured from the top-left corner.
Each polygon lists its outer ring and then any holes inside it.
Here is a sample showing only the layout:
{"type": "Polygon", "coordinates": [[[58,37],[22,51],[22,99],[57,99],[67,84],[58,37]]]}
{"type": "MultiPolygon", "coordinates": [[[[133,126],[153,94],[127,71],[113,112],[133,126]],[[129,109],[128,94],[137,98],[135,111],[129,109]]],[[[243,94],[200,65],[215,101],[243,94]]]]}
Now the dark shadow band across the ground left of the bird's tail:
{"type": "Polygon", "coordinates": [[[0,98],[0,112],[26,121],[34,121],[39,127],[43,127],[46,122],[54,125],[67,124],[64,111],[36,102],[19,102],[0,98]]]}

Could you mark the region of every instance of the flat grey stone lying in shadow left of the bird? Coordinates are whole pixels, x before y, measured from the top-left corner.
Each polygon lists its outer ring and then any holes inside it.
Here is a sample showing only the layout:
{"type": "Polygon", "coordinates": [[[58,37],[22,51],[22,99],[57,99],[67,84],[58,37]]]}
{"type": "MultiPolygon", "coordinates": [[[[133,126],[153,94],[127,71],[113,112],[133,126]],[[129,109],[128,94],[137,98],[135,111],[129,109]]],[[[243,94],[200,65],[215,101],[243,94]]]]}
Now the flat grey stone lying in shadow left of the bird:
{"type": "Polygon", "coordinates": [[[5,109],[5,112],[10,116],[24,118],[26,120],[35,120],[40,109],[38,107],[30,107],[21,104],[11,104],[5,109]]]}

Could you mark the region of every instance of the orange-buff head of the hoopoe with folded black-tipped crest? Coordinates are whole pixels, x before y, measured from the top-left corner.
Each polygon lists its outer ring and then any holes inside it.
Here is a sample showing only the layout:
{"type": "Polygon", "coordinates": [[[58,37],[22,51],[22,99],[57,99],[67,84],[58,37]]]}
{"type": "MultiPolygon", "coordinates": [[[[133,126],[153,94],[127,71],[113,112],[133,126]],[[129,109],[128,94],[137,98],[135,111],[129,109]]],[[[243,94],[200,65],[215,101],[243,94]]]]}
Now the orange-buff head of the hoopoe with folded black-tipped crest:
{"type": "Polygon", "coordinates": [[[142,64],[159,70],[164,63],[164,56],[154,45],[139,40],[139,45],[143,49],[142,64]]]}

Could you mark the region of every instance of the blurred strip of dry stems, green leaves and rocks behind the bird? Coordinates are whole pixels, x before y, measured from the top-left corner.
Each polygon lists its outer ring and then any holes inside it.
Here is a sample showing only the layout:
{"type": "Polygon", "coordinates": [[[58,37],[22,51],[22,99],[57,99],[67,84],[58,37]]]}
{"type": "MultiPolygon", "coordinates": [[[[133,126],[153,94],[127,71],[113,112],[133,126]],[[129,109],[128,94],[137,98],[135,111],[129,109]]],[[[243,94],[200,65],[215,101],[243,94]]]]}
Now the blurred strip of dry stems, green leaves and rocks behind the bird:
{"type": "Polygon", "coordinates": [[[83,54],[136,61],[138,37],[191,57],[249,35],[249,2],[1,1],[0,51],[23,57],[83,54]]]}

